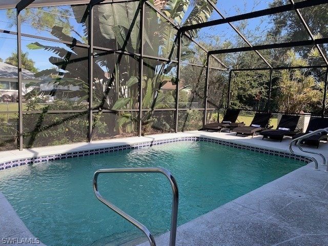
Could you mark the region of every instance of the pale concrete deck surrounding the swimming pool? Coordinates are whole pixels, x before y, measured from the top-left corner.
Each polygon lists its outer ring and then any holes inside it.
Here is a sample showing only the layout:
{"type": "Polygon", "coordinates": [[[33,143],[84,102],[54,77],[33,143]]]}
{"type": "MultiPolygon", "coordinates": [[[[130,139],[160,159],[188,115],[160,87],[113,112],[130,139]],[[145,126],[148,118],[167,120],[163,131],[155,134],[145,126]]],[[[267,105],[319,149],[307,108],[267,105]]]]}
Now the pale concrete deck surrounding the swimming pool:
{"type": "MultiPolygon", "coordinates": [[[[288,145],[291,140],[286,137],[279,142],[262,140],[262,137],[258,135],[251,138],[250,136],[236,136],[235,133],[228,132],[191,131],[23,151],[5,151],[0,152],[0,163],[12,159],[186,136],[220,139],[282,152],[289,152],[288,145]]],[[[296,150],[297,147],[294,149],[296,150]]],[[[328,158],[328,144],[326,143],[320,143],[319,149],[315,147],[304,147],[304,149],[318,151],[328,158]]],[[[320,171],[313,170],[314,162],[311,162],[178,227],[176,245],[328,245],[326,231],[328,228],[328,173],[325,172],[326,167],[320,166],[322,160],[317,159],[320,171]]],[[[35,238],[1,193],[0,207],[2,208],[0,210],[0,238],[35,238]]],[[[156,244],[169,245],[169,237],[169,233],[156,237],[156,244]]],[[[7,245],[35,244],[8,243],[7,245]]],[[[149,245],[149,243],[140,245],[149,245]]]]}

